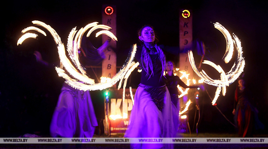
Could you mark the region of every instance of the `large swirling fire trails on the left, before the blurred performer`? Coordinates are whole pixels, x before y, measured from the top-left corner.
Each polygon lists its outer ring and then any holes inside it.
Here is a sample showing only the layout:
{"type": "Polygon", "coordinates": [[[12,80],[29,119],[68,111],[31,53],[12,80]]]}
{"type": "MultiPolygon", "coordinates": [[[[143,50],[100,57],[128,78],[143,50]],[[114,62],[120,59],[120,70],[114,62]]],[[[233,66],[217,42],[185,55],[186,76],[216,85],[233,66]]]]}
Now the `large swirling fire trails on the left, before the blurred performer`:
{"type": "MultiPolygon", "coordinates": [[[[73,61],[73,63],[77,67],[77,69],[79,70],[78,71],[72,65],[70,60],[67,58],[64,45],[61,42],[61,39],[60,39],[59,35],[57,34],[57,32],[53,28],[51,28],[50,25],[47,25],[41,21],[32,21],[32,23],[34,25],[41,26],[41,27],[47,29],[47,31],[51,34],[51,36],[53,37],[53,39],[55,41],[55,44],[58,47],[58,53],[59,53],[59,59],[60,59],[60,66],[55,67],[55,69],[56,69],[58,75],[60,77],[63,77],[66,80],[65,82],[67,84],[69,84],[70,86],[72,86],[76,89],[79,89],[79,90],[103,90],[103,89],[106,89],[108,87],[111,87],[117,81],[124,78],[124,75],[127,73],[129,68],[132,66],[132,61],[133,61],[135,53],[136,53],[136,44],[133,45],[131,55],[128,58],[129,60],[128,60],[127,64],[124,65],[120,69],[120,71],[115,76],[113,76],[111,78],[111,80],[108,80],[108,81],[106,80],[106,82],[104,82],[104,83],[103,82],[95,83],[95,80],[87,77],[87,74],[85,71],[86,69],[81,66],[81,64],[79,62],[79,58],[78,58],[78,49],[80,48],[81,39],[82,39],[83,34],[90,28],[91,29],[87,33],[87,37],[90,36],[90,34],[93,31],[95,31],[96,29],[103,29],[103,30],[96,33],[96,37],[101,35],[101,34],[104,34],[104,35],[111,37],[112,40],[117,40],[116,36],[114,36],[114,34],[109,31],[111,29],[111,27],[109,27],[107,25],[98,25],[98,22],[93,22],[93,23],[86,25],[84,28],[81,28],[79,31],[76,30],[76,27],[71,30],[71,32],[68,36],[68,41],[67,41],[67,52],[69,54],[69,57],[71,58],[71,60],[73,61]],[[73,41],[74,41],[74,44],[73,44],[73,41]],[[68,74],[66,74],[66,72],[63,70],[63,68],[69,74],[71,74],[75,79],[71,78],[68,74]]],[[[43,30],[38,29],[36,27],[28,27],[28,28],[22,30],[22,33],[26,32],[26,31],[30,31],[30,30],[40,32],[46,36],[46,34],[43,32],[43,30]]],[[[34,33],[25,33],[24,35],[22,35],[21,38],[19,38],[17,45],[22,44],[22,42],[24,40],[26,40],[27,38],[36,38],[36,37],[37,37],[37,35],[34,33]]]]}

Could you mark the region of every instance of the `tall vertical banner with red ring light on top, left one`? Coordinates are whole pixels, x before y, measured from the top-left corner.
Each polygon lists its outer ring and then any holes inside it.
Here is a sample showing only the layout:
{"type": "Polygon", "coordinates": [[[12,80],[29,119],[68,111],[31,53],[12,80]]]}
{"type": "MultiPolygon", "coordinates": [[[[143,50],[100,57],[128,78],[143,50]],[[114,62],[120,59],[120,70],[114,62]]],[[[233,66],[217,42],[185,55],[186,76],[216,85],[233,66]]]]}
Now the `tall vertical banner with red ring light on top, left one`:
{"type": "MultiPolygon", "coordinates": [[[[103,5],[102,6],[102,24],[108,25],[110,30],[116,36],[116,6],[103,5]]],[[[108,36],[102,36],[102,43],[109,41],[109,46],[105,50],[106,58],[102,62],[102,76],[112,78],[116,75],[116,41],[113,41],[108,36]]]]}

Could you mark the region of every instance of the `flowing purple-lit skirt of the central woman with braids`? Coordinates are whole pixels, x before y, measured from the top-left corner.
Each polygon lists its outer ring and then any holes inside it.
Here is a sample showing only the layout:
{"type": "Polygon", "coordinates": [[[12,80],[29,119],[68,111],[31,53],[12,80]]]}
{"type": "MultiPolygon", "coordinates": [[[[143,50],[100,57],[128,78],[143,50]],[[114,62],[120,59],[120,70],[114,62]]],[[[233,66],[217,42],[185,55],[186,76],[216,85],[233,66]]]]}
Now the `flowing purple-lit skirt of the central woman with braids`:
{"type": "MultiPolygon", "coordinates": [[[[160,111],[150,94],[139,86],[135,93],[130,124],[125,137],[172,138],[175,134],[171,100],[167,87],[164,96],[164,107],[160,111]]],[[[173,148],[173,144],[131,144],[131,148],[173,148]]]]}

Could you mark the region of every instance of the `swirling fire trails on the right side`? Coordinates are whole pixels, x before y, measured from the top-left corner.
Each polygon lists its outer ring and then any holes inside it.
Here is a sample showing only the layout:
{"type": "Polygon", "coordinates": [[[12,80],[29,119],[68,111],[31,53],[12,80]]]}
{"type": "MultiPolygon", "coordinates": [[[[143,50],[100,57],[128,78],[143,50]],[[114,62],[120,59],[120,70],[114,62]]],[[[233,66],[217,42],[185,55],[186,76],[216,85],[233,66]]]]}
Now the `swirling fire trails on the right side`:
{"type": "Polygon", "coordinates": [[[219,31],[222,32],[226,39],[227,47],[226,47],[226,52],[224,55],[224,61],[225,63],[229,63],[230,59],[232,58],[233,55],[233,44],[235,44],[236,50],[237,50],[237,60],[233,64],[233,67],[230,69],[229,72],[225,73],[222,68],[219,65],[216,65],[215,63],[204,60],[204,64],[208,64],[211,67],[215,68],[219,73],[220,73],[220,79],[212,79],[210,78],[204,70],[199,71],[195,65],[194,58],[193,58],[193,52],[190,51],[188,52],[189,56],[189,61],[190,64],[193,68],[193,71],[201,78],[204,80],[205,83],[213,86],[217,86],[217,90],[215,93],[215,97],[212,101],[212,105],[214,105],[217,101],[217,98],[219,97],[219,94],[221,92],[222,88],[222,95],[225,96],[226,93],[226,86],[229,86],[229,84],[233,83],[239,75],[243,72],[243,69],[245,67],[245,60],[242,57],[242,47],[241,47],[241,42],[238,39],[236,35],[233,34],[233,39],[229,32],[219,23],[214,23],[214,27],[218,29],[219,31]],[[233,43],[234,41],[234,43],[233,43]]]}

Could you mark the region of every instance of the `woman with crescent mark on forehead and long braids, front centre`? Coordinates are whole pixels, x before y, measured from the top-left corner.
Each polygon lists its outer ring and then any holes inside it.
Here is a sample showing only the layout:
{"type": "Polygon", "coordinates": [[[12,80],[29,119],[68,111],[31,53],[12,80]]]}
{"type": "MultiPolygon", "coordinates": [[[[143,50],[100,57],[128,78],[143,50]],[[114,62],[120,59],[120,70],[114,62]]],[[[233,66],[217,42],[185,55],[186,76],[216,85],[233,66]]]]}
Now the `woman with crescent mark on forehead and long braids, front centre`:
{"type": "MultiPolygon", "coordinates": [[[[125,137],[174,137],[174,124],[169,91],[165,85],[165,55],[156,44],[150,25],[139,30],[141,47],[136,59],[141,67],[141,81],[136,90],[128,130],[125,137]]],[[[173,144],[131,144],[132,148],[172,148],[173,144]]]]}

